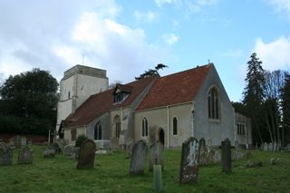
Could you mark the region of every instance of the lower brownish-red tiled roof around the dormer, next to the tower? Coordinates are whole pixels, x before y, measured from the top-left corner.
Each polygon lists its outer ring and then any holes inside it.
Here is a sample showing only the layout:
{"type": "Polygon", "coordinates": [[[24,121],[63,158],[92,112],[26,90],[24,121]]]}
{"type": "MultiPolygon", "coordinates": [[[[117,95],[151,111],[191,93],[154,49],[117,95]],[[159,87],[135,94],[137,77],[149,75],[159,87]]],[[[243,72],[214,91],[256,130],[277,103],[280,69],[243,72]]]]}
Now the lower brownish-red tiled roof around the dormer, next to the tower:
{"type": "Polygon", "coordinates": [[[66,128],[86,125],[107,111],[130,105],[150,82],[155,80],[156,78],[146,78],[125,84],[126,88],[131,88],[131,94],[120,104],[113,104],[112,93],[114,89],[92,95],[73,114],[66,118],[65,121],[69,122],[66,128]]]}

